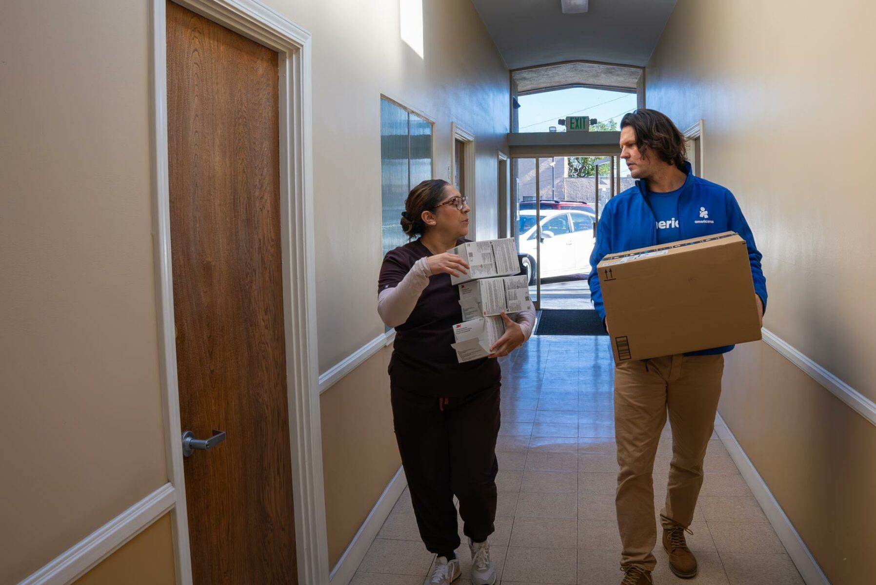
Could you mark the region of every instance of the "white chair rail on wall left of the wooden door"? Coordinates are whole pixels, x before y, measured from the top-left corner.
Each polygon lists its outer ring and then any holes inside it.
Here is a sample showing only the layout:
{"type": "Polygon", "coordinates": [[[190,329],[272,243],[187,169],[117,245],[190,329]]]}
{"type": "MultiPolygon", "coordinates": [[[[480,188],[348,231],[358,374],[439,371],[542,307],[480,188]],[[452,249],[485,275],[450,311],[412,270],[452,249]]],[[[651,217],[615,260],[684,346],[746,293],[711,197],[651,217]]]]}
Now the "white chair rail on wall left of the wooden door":
{"type": "Polygon", "coordinates": [[[66,585],[74,581],[164,516],[173,504],[173,485],[165,483],[18,585],[66,585]]]}

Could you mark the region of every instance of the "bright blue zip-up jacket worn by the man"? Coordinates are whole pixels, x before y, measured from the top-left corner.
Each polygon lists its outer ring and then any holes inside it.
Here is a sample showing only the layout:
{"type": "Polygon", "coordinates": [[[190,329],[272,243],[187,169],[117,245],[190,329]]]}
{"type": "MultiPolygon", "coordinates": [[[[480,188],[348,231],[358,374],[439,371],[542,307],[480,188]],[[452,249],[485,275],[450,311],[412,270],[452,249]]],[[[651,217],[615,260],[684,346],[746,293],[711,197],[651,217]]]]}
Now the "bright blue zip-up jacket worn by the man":
{"type": "MultiPolygon", "coordinates": [[[[767,311],[767,279],[760,269],[760,258],[763,255],[754,244],[752,230],[745,222],[745,216],[739,209],[736,198],[729,189],[711,183],[708,180],[695,177],[690,173],[690,164],[686,164],[687,179],[678,195],[678,218],[681,239],[720,234],[724,231],[735,231],[745,238],[748,246],[748,259],[752,264],[752,280],[754,292],[758,294],[767,311]],[[701,210],[708,215],[701,217],[701,210]]],[[[622,194],[612,198],[605,204],[597,226],[597,243],[590,254],[590,298],[593,307],[605,321],[602,292],[599,289],[599,271],[597,264],[608,254],[648,248],[657,245],[657,218],[651,210],[648,201],[648,191],[643,180],[637,180],[635,187],[630,187],[622,194]]],[[[723,354],[734,346],[705,349],[688,355],[723,354]]]]}

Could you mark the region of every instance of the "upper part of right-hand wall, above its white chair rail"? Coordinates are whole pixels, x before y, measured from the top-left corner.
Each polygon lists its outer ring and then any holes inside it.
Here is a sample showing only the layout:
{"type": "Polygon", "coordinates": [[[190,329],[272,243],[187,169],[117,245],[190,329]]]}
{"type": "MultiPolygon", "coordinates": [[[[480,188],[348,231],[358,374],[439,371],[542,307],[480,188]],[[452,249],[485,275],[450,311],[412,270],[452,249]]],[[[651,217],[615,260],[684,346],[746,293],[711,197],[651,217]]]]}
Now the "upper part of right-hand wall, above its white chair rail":
{"type": "Polygon", "coordinates": [[[876,4],[843,4],[680,1],[646,97],[682,130],[703,118],[704,176],[764,254],[764,325],[876,399],[876,4]]]}

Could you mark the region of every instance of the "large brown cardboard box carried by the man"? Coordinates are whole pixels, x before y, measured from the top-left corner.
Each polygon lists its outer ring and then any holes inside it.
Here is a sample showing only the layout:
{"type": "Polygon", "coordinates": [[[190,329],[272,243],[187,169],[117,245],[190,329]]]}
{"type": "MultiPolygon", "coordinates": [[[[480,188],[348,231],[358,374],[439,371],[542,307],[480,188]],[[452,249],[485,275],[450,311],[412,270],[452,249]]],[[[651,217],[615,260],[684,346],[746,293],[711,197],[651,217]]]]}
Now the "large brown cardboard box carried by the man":
{"type": "Polygon", "coordinates": [[[611,254],[597,269],[618,363],[760,339],[748,250],[734,232],[611,254]]]}

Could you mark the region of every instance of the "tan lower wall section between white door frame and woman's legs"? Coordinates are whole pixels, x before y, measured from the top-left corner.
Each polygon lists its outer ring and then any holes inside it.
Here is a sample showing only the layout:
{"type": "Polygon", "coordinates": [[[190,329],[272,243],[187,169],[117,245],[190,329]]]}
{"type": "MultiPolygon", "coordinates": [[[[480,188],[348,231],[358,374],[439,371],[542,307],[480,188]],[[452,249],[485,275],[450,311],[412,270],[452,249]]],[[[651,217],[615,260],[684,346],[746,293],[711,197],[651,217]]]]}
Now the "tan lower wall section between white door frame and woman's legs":
{"type": "Polygon", "coordinates": [[[322,394],[322,458],[329,563],[334,567],[399,470],[386,348],[322,394]],[[375,384],[378,380],[378,384],[375,384]]]}

